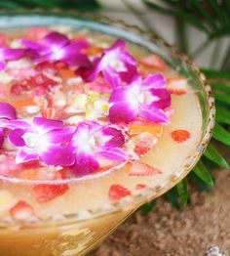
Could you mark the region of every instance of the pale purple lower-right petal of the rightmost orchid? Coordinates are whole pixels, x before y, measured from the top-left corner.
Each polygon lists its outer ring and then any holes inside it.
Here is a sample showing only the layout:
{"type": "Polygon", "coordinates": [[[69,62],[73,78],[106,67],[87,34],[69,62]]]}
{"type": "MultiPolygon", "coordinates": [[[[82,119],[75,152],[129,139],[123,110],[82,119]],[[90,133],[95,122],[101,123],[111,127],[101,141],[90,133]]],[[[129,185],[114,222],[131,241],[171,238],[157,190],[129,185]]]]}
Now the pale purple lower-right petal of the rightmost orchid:
{"type": "Polygon", "coordinates": [[[169,117],[161,108],[141,106],[139,107],[139,116],[154,123],[166,124],[169,122],[169,117]]]}

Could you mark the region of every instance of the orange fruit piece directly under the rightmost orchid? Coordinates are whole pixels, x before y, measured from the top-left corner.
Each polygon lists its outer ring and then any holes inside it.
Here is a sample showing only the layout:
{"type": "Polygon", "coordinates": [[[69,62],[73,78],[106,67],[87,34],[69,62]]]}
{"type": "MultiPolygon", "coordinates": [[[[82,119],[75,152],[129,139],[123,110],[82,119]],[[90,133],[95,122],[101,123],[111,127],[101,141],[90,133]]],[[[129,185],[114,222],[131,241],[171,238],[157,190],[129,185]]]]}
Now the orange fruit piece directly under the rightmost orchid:
{"type": "Polygon", "coordinates": [[[129,126],[129,134],[131,136],[138,135],[143,132],[148,132],[156,136],[161,137],[163,133],[163,126],[153,123],[132,123],[129,126]]]}

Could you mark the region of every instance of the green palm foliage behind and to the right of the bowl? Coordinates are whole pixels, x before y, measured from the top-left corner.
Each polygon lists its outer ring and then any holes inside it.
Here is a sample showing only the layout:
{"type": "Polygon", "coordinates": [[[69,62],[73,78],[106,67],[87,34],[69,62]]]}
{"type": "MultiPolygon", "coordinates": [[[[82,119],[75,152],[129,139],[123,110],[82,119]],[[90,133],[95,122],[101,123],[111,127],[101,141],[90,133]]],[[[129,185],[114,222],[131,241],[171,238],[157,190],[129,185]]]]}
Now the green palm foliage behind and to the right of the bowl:
{"type": "MultiPolygon", "coordinates": [[[[112,12],[109,2],[103,0],[0,0],[0,9],[16,11],[20,8],[42,8],[52,12],[53,9],[60,8],[63,10],[76,9],[80,12],[99,12],[105,5],[106,10],[110,9],[109,11],[112,12]]],[[[144,10],[148,10],[148,12],[153,10],[171,16],[176,24],[177,45],[192,59],[196,60],[197,56],[214,44],[210,68],[202,69],[211,84],[217,109],[213,139],[202,159],[188,177],[166,194],[173,206],[180,208],[189,202],[188,188],[195,185],[196,188],[209,192],[214,186],[213,171],[229,168],[229,164],[218,148],[219,146],[221,146],[220,148],[230,148],[230,1],[139,0],[138,2],[141,2],[138,3],[141,4],[141,11],[135,8],[136,0],[111,1],[111,6],[114,7],[114,3],[124,6],[126,12],[132,13],[137,20],[145,25],[146,29],[155,33],[154,27],[149,25],[145,19],[144,10]],[[204,41],[193,51],[188,40],[188,26],[193,26],[205,34],[204,41]],[[213,68],[219,58],[220,39],[223,37],[228,40],[227,50],[221,57],[218,68],[213,68]]],[[[148,212],[154,204],[155,201],[152,201],[142,206],[141,210],[148,212]]]]}

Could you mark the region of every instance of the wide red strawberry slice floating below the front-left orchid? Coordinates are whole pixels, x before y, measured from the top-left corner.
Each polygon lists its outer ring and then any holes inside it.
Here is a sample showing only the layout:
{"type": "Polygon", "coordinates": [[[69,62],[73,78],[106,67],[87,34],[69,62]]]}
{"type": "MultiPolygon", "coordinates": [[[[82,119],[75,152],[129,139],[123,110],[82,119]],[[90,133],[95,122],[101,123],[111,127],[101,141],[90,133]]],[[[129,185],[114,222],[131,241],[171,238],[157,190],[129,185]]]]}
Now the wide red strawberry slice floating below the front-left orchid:
{"type": "Polygon", "coordinates": [[[67,184],[61,185],[49,185],[49,184],[39,184],[33,187],[33,192],[35,198],[38,202],[48,202],[62,195],[69,190],[67,184]]]}

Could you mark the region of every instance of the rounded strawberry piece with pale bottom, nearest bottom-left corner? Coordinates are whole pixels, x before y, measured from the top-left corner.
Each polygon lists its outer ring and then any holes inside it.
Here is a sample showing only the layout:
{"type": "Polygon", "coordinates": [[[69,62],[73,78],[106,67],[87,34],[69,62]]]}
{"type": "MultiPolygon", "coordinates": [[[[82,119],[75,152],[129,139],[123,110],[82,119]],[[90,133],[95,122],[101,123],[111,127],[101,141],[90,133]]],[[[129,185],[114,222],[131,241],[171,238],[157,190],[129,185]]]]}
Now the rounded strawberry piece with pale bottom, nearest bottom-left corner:
{"type": "Polygon", "coordinates": [[[17,204],[10,209],[10,213],[14,219],[25,220],[34,214],[34,210],[26,201],[19,200],[17,204]]]}

